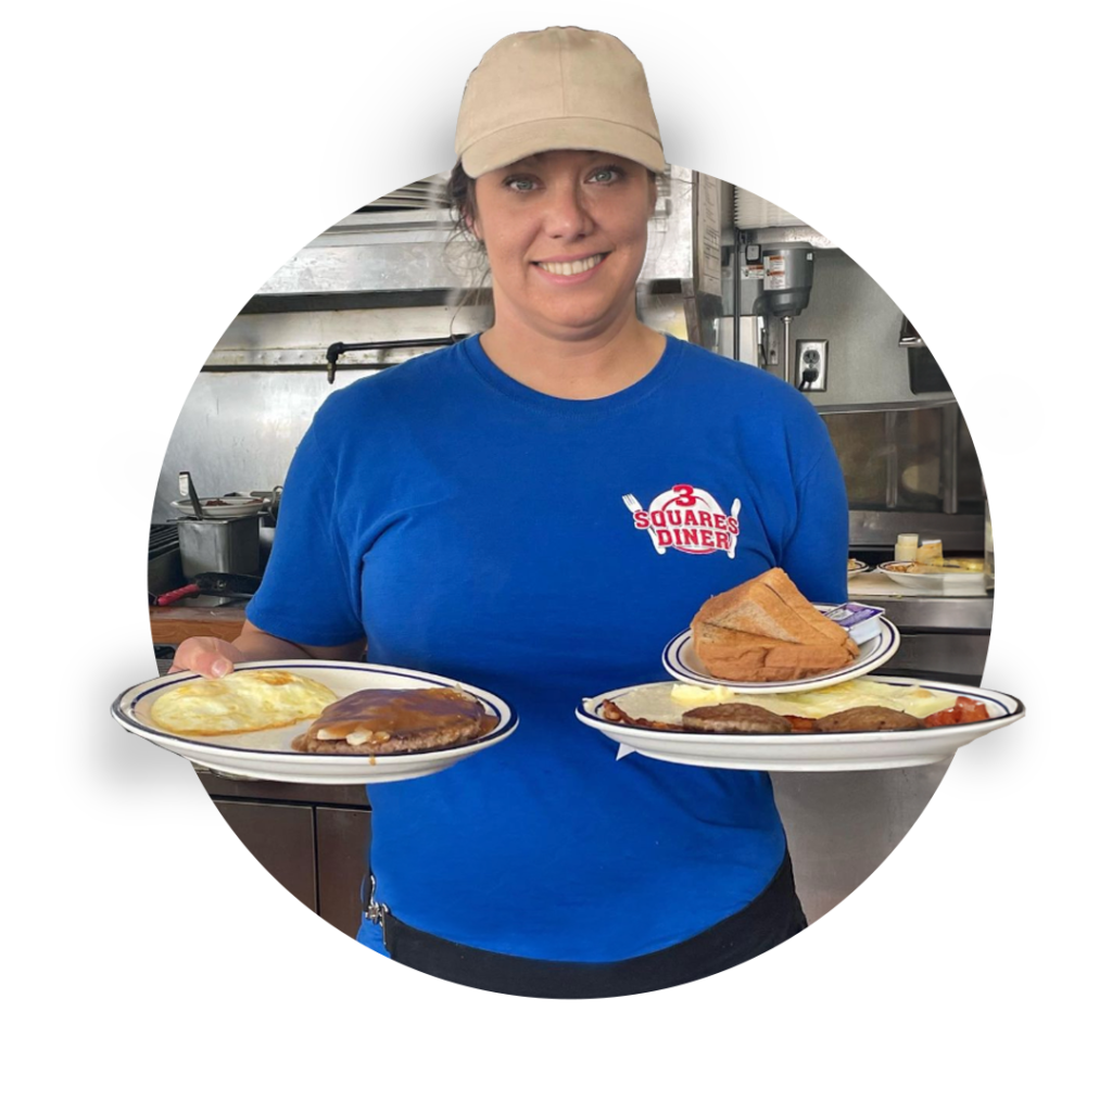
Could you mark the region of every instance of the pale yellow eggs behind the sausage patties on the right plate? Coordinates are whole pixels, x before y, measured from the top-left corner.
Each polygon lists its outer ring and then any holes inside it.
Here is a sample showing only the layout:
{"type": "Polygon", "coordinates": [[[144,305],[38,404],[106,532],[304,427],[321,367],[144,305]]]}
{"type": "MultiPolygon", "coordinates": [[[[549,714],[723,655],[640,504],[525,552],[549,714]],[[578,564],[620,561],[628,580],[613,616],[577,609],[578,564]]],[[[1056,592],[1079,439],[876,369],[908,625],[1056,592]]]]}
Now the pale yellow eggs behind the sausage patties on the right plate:
{"type": "Polygon", "coordinates": [[[749,695],[728,687],[699,687],[694,684],[645,684],[614,702],[633,718],[681,724],[685,711],[697,706],[747,703],[773,714],[800,718],[822,718],[860,706],[882,706],[925,718],[937,711],[949,711],[955,696],[925,687],[901,687],[875,679],[848,679],[817,691],[781,695],[749,695]]]}

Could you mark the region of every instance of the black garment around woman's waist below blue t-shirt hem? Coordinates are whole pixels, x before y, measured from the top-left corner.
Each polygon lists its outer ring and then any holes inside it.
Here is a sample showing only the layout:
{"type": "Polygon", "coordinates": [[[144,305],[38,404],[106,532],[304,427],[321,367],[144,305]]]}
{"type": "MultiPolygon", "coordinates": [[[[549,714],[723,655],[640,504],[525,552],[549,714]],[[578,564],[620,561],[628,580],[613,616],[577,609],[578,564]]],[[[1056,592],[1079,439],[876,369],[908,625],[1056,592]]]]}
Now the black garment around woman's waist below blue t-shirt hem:
{"type": "Polygon", "coordinates": [[[686,942],[620,962],[549,962],[510,957],[447,942],[387,914],[386,949],[405,969],[502,996],[608,1000],[665,992],[744,965],[807,927],[785,854],[768,886],[736,915],[686,942]]]}

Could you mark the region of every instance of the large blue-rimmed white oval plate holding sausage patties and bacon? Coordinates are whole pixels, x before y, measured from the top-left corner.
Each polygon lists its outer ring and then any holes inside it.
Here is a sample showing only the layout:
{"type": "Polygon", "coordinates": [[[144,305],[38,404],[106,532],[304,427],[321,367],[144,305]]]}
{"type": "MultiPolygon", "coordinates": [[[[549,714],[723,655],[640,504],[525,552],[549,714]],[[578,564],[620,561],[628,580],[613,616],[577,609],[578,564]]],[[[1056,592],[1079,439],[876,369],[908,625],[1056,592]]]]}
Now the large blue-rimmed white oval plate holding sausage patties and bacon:
{"type": "Polygon", "coordinates": [[[1003,729],[1026,717],[1027,713],[1014,696],[982,687],[891,676],[877,676],[873,682],[967,695],[984,703],[991,717],[957,726],[856,734],[681,734],[607,722],[600,713],[603,701],[620,698],[632,689],[629,687],[585,698],[575,716],[618,745],[672,764],[763,772],[861,772],[910,768],[945,761],[970,742],[1003,729]]]}

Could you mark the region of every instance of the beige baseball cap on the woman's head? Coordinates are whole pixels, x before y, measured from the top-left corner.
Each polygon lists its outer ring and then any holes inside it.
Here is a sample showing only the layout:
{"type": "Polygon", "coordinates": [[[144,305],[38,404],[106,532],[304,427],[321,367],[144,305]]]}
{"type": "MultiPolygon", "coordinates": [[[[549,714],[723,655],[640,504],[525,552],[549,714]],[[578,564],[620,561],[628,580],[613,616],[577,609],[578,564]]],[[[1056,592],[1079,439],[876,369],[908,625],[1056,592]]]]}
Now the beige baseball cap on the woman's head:
{"type": "Polygon", "coordinates": [[[464,87],[456,155],[477,178],[546,150],[600,150],[663,170],[641,59],[606,31],[546,27],[499,39],[464,87]]]}

